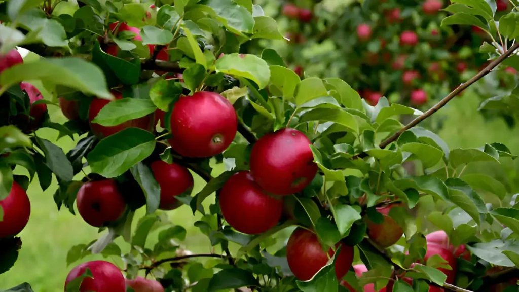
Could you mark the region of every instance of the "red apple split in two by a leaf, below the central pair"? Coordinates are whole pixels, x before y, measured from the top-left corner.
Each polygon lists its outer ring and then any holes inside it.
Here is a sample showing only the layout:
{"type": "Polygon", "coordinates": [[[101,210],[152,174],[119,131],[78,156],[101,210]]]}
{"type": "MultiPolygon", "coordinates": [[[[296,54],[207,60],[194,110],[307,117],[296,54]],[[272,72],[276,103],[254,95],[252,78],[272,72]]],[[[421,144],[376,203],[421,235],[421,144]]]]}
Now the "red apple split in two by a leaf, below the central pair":
{"type": "MultiPolygon", "coordinates": [[[[337,244],[338,248],[339,244],[337,244]]],[[[340,244],[340,253],[335,261],[335,275],[338,279],[344,277],[353,262],[353,247],[340,244]]],[[[327,255],[323,251],[317,235],[309,230],[298,227],[290,235],[286,245],[286,259],[292,273],[301,281],[308,281],[326,265],[329,256],[335,252],[330,248],[327,255]]]]}

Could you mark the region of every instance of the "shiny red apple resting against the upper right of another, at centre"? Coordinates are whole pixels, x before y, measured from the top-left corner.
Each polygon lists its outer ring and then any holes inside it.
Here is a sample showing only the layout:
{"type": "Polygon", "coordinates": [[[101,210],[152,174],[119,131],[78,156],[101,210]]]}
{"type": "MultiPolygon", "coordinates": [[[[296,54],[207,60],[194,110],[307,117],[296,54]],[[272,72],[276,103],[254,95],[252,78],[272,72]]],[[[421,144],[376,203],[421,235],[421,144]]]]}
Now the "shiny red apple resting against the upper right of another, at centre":
{"type": "Polygon", "coordinates": [[[261,137],[251,152],[254,180],[267,192],[277,195],[302,191],[317,174],[311,144],[305,134],[290,128],[261,137]]]}

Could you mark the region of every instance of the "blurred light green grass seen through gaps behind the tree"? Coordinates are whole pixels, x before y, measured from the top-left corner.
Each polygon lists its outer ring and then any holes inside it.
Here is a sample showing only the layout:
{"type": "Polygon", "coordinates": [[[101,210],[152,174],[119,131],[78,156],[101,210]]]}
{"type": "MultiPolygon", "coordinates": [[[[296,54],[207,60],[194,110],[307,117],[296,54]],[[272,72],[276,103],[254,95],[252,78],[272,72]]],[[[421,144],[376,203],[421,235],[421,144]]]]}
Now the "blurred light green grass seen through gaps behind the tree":
{"type": "MultiPolygon", "coordinates": [[[[485,142],[501,142],[517,153],[519,129],[508,129],[501,120],[485,122],[476,112],[478,105],[479,100],[475,96],[465,94],[463,98],[452,101],[440,112],[440,115],[447,116],[441,137],[449,147],[480,147],[485,142]]],[[[52,118],[57,122],[64,119],[56,109],[52,109],[52,118]]],[[[57,132],[44,130],[39,135],[54,139],[57,132]]],[[[73,147],[73,142],[69,138],[61,139],[58,144],[65,151],[73,147]]],[[[509,163],[508,168],[508,174],[503,175],[514,179],[519,167],[509,163]]],[[[196,178],[194,192],[202,187],[203,182],[196,178]]],[[[54,182],[47,191],[42,192],[37,178],[30,185],[28,193],[32,213],[27,227],[20,234],[23,247],[15,267],[0,275],[0,289],[29,282],[36,292],[62,291],[64,278],[71,268],[66,266],[65,261],[69,248],[76,244],[88,243],[99,236],[97,229],[90,227],[80,217],[72,216],[66,209],[57,210],[52,199],[56,188],[54,182]]],[[[136,218],[141,216],[142,212],[136,215],[136,218]]],[[[169,216],[174,223],[187,229],[186,248],[194,252],[210,251],[207,237],[193,227],[193,222],[197,218],[190,213],[189,208],[183,206],[170,211],[169,216]]],[[[152,235],[149,244],[154,244],[154,241],[155,237],[152,235]]],[[[94,258],[97,257],[91,256],[85,260],[94,258]]]]}

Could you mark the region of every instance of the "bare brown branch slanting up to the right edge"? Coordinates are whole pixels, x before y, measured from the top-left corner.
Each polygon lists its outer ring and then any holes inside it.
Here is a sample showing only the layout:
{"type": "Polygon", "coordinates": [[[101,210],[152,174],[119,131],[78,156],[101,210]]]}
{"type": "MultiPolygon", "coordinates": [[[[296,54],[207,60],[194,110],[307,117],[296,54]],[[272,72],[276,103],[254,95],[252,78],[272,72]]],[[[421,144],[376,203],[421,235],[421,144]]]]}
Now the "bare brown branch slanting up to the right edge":
{"type": "Polygon", "coordinates": [[[420,123],[421,121],[424,121],[427,117],[431,116],[433,113],[435,113],[438,110],[440,110],[441,108],[443,108],[445,106],[445,104],[447,104],[447,102],[449,102],[451,99],[456,97],[461,91],[465,90],[467,87],[469,87],[470,85],[472,85],[473,83],[475,83],[476,81],[481,79],[483,76],[485,76],[488,73],[490,73],[504,59],[506,59],[510,55],[512,55],[512,53],[517,48],[519,48],[519,42],[515,43],[512,47],[510,47],[510,49],[508,49],[506,52],[504,52],[497,59],[495,59],[494,61],[490,62],[490,64],[488,64],[488,66],[485,69],[483,69],[481,72],[479,72],[476,75],[474,75],[472,78],[469,79],[469,81],[467,81],[466,83],[463,83],[460,86],[456,87],[456,89],[454,89],[452,92],[450,92],[449,95],[447,95],[444,99],[442,99],[440,102],[438,102],[436,105],[434,105],[434,107],[429,109],[424,114],[418,116],[413,121],[411,121],[411,123],[405,125],[404,128],[402,128],[401,130],[399,130],[398,132],[393,134],[391,137],[387,138],[382,143],[380,143],[380,145],[379,145],[380,149],[386,148],[387,145],[389,145],[392,142],[396,141],[398,139],[398,137],[400,137],[400,135],[402,135],[403,132],[407,131],[408,129],[411,129],[412,127],[414,127],[416,125],[418,125],[418,123],[420,123]]]}

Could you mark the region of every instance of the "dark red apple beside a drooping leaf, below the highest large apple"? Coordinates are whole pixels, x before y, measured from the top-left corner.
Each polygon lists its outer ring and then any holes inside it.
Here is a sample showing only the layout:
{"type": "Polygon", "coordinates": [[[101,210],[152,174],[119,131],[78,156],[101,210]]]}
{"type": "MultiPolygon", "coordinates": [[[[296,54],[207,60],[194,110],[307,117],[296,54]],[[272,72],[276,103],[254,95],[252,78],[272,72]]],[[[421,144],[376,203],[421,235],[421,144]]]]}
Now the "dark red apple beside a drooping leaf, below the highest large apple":
{"type": "Polygon", "coordinates": [[[166,163],[157,160],[151,164],[153,176],[160,185],[160,205],[161,210],[173,210],[182,203],[176,200],[175,196],[188,192],[193,189],[193,176],[184,166],[176,163],[166,163]]]}

